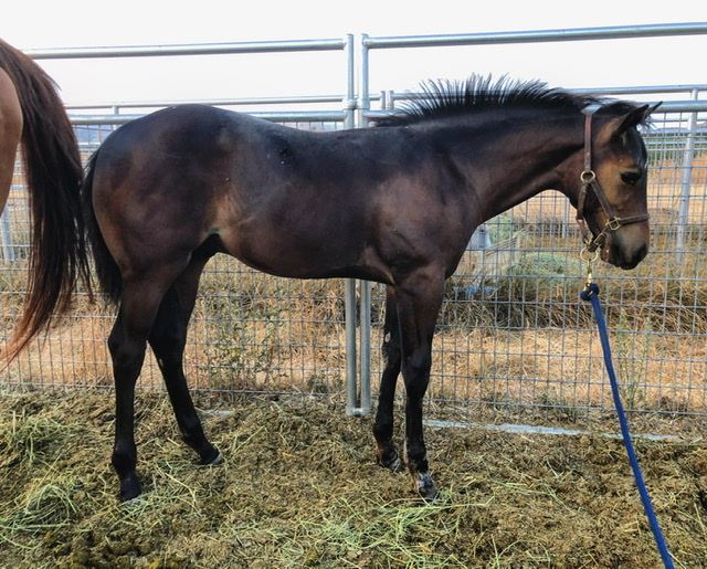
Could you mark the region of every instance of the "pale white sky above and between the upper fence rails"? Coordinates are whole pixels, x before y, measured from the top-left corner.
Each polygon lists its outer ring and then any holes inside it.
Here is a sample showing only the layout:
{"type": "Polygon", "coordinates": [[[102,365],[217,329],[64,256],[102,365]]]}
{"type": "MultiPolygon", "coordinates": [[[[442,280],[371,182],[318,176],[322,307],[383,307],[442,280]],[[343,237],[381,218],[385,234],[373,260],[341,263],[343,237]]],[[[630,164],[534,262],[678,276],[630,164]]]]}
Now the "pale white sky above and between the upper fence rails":
{"type": "MultiPolygon", "coordinates": [[[[20,49],[707,21],[704,0],[661,4],[636,0],[12,0],[3,4],[0,36],[20,49]]],[[[384,50],[371,53],[371,91],[403,91],[424,78],[463,78],[472,72],[508,73],[562,87],[707,83],[705,54],[707,35],[384,50]]],[[[339,52],[39,63],[60,84],[68,104],[342,94],[345,89],[339,52]]]]}

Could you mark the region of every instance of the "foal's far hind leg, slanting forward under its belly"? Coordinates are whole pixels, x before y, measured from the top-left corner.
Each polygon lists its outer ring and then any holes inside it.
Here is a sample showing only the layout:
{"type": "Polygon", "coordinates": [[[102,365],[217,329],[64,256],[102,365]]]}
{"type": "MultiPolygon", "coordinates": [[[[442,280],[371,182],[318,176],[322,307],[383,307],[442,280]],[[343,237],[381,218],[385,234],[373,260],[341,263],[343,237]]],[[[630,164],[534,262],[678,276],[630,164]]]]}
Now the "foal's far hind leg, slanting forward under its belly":
{"type": "Polygon", "coordinates": [[[194,307],[199,277],[208,260],[209,256],[194,256],[167,291],[152,326],[149,343],[162,371],[182,439],[197,451],[201,464],[215,464],[221,461],[221,455],[203,433],[201,421],[189,394],[182,366],[187,327],[194,307]]]}

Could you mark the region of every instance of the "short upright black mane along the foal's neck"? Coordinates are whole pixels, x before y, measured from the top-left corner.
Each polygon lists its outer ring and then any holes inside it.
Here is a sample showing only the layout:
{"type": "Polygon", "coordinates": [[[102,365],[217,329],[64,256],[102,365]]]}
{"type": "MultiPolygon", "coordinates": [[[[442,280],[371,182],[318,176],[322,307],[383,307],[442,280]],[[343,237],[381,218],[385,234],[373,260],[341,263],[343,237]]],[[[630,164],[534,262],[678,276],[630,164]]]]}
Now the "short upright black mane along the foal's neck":
{"type": "Polygon", "coordinates": [[[581,110],[600,102],[597,97],[550,88],[540,81],[517,81],[503,76],[472,75],[466,81],[428,81],[423,97],[408,102],[401,112],[377,120],[378,126],[403,126],[467,115],[497,107],[581,110]]]}

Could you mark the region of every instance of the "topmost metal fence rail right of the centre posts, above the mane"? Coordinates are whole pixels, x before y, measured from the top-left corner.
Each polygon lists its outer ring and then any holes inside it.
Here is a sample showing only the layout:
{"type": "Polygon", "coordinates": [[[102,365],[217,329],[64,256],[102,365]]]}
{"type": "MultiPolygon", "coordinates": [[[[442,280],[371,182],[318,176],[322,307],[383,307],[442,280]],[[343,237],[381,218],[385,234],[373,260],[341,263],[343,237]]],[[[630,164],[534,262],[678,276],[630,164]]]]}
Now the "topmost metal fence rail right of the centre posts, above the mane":
{"type": "Polygon", "coordinates": [[[442,48],[450,45],[488,45],[500,43],[623,40],[696,34],[707,34],[707,22],[572,28],[567,30],[481,32],[445,35],[367,36],[363,38],[362,42],[363,46],[369,50],[384,50],[392,48],[442,48]]]}

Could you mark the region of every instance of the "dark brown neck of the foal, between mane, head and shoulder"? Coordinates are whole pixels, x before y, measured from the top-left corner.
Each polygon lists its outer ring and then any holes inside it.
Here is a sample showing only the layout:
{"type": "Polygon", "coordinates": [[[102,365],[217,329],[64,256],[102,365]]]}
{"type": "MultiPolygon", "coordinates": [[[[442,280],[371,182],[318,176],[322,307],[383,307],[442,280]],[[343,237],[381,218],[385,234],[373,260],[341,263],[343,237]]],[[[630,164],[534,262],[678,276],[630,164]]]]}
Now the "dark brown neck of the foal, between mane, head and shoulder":
{"type": "Polygon", "coordinates": [[[469,206],[478,211],[478,222],[544,190],[573,199],[571,182],[580,175],[583,145],[581,120],[539,117],[495,129],[472,125],[468,136],[451,144],[454,164],[469,182],[469,206]]]}

